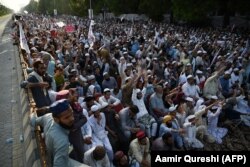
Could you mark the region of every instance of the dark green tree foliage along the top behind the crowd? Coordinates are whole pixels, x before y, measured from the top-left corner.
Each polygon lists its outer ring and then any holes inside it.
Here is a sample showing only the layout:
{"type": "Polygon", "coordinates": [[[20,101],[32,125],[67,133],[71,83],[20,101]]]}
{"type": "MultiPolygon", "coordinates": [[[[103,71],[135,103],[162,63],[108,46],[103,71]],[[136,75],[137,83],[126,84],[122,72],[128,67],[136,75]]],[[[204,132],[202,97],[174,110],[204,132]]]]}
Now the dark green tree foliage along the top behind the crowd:
{"type": "Polygon", "coordinates": [[[38,3],[31,0],[26,10],[52,14],[57,9],[58,14],[84,16],[88,15],[90,1],[94,14],[105,9],[116,15],[146,14],[158,21],[166,13],[173,13],[175,20],[190,23],[204,23],[208,14],[218,11],[225,17],[232,13],[250,14],[248,0],[39,0],[38,3]]]}

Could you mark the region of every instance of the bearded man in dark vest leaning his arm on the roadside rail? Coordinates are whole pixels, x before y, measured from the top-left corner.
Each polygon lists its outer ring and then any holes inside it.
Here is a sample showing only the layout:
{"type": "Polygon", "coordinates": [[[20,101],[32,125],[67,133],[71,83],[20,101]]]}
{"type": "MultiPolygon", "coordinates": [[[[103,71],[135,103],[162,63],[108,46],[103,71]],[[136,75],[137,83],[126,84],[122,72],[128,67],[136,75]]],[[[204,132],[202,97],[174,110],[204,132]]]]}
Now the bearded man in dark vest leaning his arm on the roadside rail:
{"type": "MultiPolygon", "coordinates": [[[[51,104],[47,88],[49,83],[45,81],[46,66],[42,60],[33,63],[34,71],[29,74],[27,81],[21,84],[22,88],[30,88],[36,107],[43,108],[51,104]]],[[[48,76],[49,77],[49,76],[48,76]]],[[[38,116],[43,113],[38,112],[38,116]]]]}

